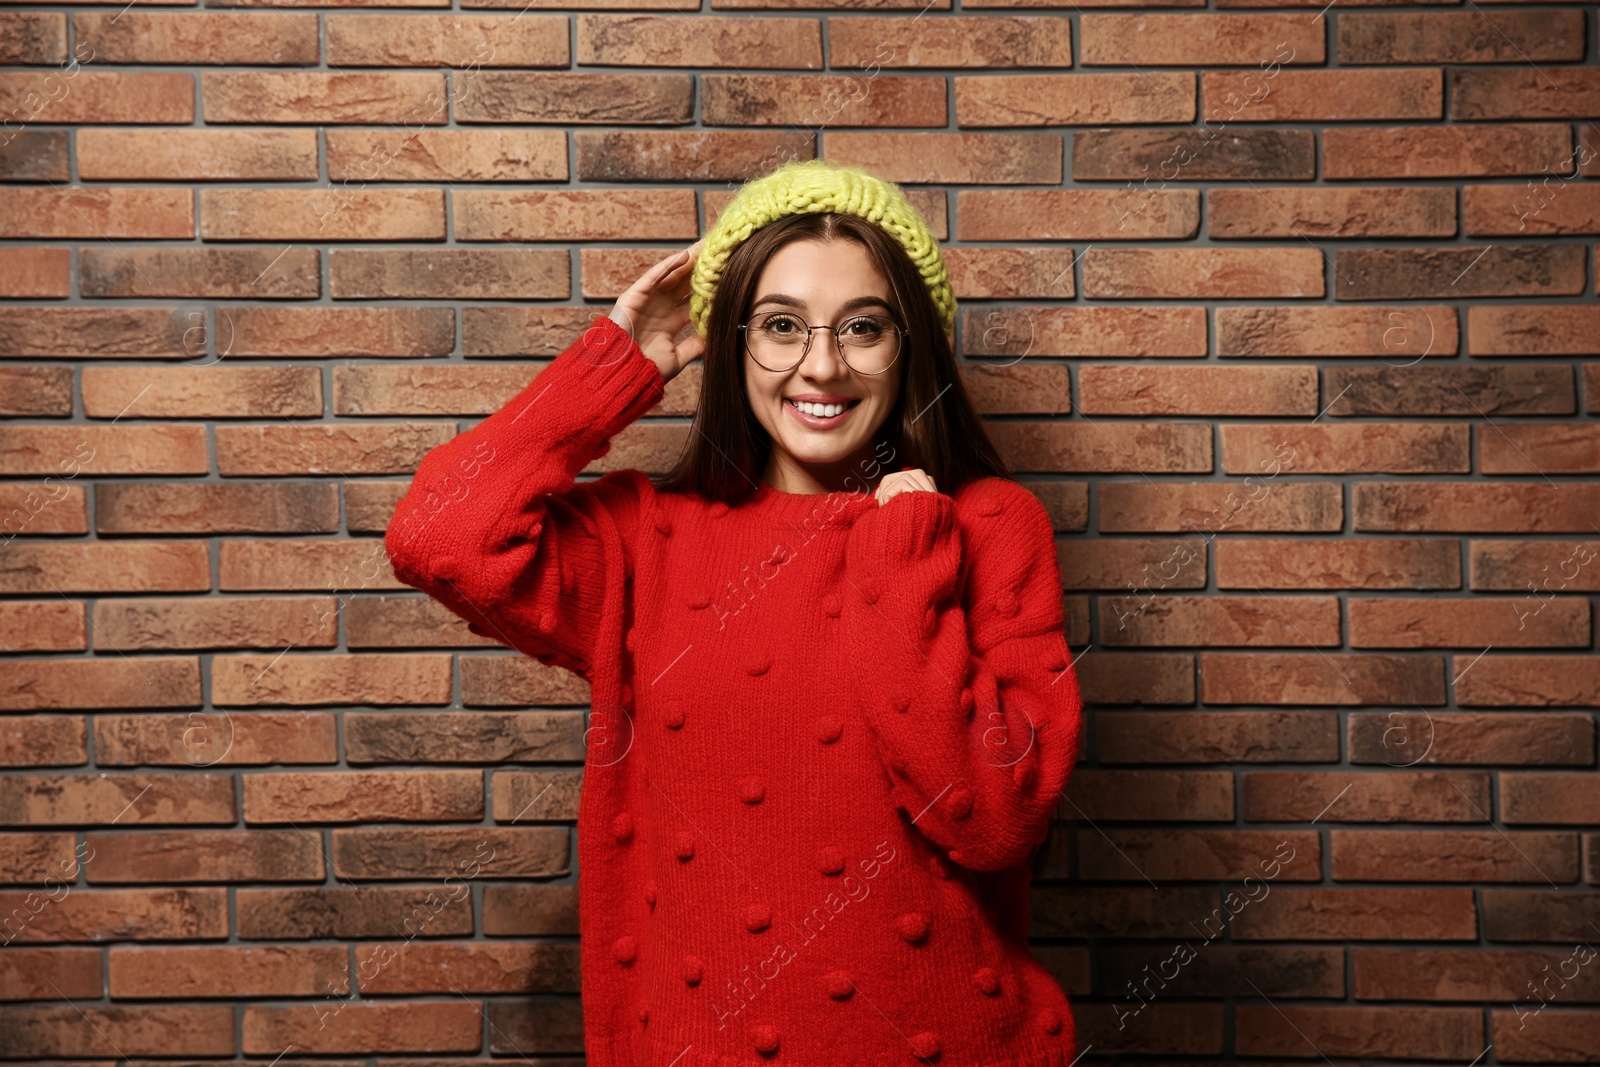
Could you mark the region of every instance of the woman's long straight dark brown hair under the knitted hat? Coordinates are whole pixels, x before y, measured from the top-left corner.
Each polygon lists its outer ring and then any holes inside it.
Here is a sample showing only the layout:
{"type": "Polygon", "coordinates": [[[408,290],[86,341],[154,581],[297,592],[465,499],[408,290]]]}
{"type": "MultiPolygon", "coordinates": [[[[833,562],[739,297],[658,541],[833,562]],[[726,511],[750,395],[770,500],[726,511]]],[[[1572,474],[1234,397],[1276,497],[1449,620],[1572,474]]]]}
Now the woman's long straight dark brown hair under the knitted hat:
{"type": "Polygon", "coordinates": [[[706,323],[693,432],[677,464],[653,478],[656,490],[736,504],[760,482],[773,438],[746,400],[739,323],[755,299],[755,283],[766,261],[784,245],[803,238],[858,242],[890,282],[890,302],[906,338],[899,355],[899,395],[877,430],[878,442],[893,450],[878,454],[885,467],[926,470],[941,493],[954,493],[982,475],[1011,478],[973,410],[950,339],[910,256],[867,219],[819,211],[770,222],[728,256],[706,323]]]}

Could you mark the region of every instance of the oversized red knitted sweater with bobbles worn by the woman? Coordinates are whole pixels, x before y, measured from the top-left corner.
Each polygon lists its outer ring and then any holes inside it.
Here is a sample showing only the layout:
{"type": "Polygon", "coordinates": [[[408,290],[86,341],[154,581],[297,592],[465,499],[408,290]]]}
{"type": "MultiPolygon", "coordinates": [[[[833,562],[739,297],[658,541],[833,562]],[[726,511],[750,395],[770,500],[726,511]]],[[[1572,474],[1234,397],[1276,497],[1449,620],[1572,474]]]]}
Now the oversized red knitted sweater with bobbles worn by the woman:
{"type": "Polygon", "coordinates": [[[1064,1067],[1027,947],[1082,720],[1043,506],[576,482],[662,389],[598,317],[386,536],[402,582],[590,683],[589,1064],[1064,1067]]]}

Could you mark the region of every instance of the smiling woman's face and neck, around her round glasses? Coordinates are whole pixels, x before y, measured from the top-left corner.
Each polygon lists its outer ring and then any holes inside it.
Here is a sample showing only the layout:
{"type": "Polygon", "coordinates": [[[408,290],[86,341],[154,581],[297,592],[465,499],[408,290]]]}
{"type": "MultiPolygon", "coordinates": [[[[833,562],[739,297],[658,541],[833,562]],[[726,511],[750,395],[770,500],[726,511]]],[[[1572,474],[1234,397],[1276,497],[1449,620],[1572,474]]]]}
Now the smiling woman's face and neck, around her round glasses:
{"type": "MultiPolygon", "coordinates": [[[[894,317],[888,278],[853,240],[797,240],[766,261],[749,315],[786,310],[813,326],[842,326],[859,314],[894,317]],[[858,302],[859,301],[859,302],[858,302]]],[[[744,392],[773,438],[766,482],[786,493],[862,490],[877,429],[899,392],[906,352],[880,374],[859,374],[840,357],[832,330],[811,334],[805,358],[789,371],[770,371],[746,347],[744,392]],[[834,418],[802,413],[792,402],[846,405],[834,418]],[[854,475],[853,480],[848,480],[854,475]],[[846,482],[848,480],[848,482],[846,482]]]]}

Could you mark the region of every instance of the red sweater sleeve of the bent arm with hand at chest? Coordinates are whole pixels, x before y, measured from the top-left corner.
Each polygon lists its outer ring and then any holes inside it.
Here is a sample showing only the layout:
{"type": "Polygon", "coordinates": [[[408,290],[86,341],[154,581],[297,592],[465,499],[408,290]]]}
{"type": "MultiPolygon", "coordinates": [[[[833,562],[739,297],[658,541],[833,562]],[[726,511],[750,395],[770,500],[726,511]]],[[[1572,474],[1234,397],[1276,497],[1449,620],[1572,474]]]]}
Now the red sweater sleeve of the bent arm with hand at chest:
{"type": "Polygon", "coordinates": [[[1000,870],[1045,838],[1083,705],[1045,507],[1005,478],[971,493],[965,560],[944,493],[862,512],[842,621],[896,801],[952,862],[1000,870]]]}

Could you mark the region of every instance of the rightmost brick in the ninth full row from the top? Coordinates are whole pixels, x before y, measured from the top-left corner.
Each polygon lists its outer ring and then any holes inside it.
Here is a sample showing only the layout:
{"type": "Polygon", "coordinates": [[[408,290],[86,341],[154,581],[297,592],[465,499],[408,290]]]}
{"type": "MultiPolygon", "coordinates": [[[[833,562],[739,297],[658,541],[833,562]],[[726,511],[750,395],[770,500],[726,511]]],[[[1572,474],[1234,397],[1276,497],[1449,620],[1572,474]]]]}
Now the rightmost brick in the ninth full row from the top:
{"type": "Polygon", "coordinates": [[[1600,514],[1600,485],[1366,482],[1354,509],[1362,531],[1586,533],[1600,514]]]}

